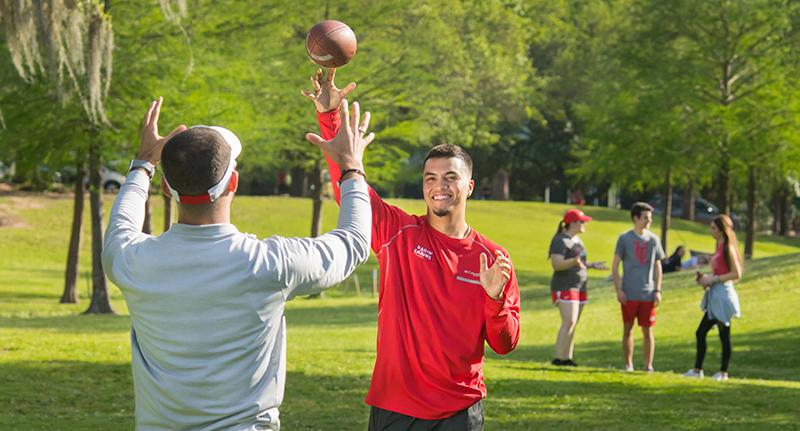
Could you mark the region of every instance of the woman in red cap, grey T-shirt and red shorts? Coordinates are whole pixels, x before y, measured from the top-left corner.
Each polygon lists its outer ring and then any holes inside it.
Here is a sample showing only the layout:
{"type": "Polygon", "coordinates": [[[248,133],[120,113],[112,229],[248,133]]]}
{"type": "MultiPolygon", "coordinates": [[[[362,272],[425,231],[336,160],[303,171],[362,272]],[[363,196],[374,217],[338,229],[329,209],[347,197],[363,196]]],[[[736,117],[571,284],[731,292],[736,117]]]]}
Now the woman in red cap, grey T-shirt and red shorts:
{"type": "Polygon", "coordinates": [[[553,265],[550,292],[553,304],[561,313],[561,328],[556,338],[553,365],[577,366],[572,360],[572,351],[575,345],[575,327],[587,300],[586,270],[608,269],[603,262],[586,262],[586,248],[578,235],[586,232],[586,222],[591,219],[581,210],[567,211],[550,241],[550,263],[553,265]]]}

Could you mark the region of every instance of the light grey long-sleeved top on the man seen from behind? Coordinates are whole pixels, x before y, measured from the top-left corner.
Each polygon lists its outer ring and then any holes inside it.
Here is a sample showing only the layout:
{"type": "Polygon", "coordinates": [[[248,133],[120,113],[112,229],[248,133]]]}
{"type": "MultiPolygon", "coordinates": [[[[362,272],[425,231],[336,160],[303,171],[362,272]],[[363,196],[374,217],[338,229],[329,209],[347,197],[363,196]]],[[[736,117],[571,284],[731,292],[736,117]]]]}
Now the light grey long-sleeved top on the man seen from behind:
{"type": "Polygon", "coordinates": [[[278,430],[284,304],[333,286],[367,260],[367,184],[342,183],[337,229],[265,240],[232,224],[143,234],[148,186],[144,172],[128,175],[103,247],[103,268],[131,316],[136,428],[278,430]]]}

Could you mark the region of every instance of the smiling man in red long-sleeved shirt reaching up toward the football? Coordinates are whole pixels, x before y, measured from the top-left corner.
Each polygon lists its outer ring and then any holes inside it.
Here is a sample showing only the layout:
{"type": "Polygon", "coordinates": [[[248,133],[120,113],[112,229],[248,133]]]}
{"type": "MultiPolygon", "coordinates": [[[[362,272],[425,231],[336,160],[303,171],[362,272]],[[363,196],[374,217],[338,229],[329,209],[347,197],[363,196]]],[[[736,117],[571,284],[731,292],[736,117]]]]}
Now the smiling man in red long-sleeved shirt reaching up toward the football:
{"type": "MultiPolygon", "coordinates": [[[[311,78],[322,136],[341,124],[336,109],[355,88],[333,82],[335,70],[311,78]]],[[[358,104],[353,104],[358,118],[358,104]]],[[[369,113],[354,133],[363,133],[369,113]]],[[[372,137],[367,136],[370,140],[372,137]]],[[[327,157],[338,201],[339,167],[327,157]]],[[[506,354],[519,340],[519,288],[508,253],[466,221],[474,188],[472,160],[460,147],[428,152],[422,188],[427,213],[410,215],[370,188],[372,250],[380,265],[377,358],[366,402],[369,429],[482,430],[486,397],[484,340],[506,354]]]]}

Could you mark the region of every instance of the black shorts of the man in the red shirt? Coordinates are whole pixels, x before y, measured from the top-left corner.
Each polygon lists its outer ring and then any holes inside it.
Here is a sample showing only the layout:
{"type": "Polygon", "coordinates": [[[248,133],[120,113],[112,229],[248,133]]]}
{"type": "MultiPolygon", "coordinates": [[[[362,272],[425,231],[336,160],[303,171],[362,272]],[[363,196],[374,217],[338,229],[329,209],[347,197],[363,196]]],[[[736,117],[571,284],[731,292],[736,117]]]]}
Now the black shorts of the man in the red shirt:
{"type": "Polygon", "coordinates": [[[433,420],[372,407],[369,431],[483,431],[483,403],[478,401],[453,416],[433,420]]]}

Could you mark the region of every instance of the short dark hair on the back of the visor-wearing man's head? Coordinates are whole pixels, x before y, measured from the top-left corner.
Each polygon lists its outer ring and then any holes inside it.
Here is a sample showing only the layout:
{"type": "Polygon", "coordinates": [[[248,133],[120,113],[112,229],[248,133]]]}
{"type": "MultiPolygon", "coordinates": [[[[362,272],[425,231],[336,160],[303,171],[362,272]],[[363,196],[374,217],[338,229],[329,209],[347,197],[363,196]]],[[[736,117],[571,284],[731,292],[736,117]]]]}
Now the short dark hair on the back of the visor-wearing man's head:
{"type": "Polygon", "coordinates": [[[161,166],[178,193],[197,196],[218,183],[231,159],[231,147],[219,132],[192,127],[170,139],[161,150],[161,166]]]}

